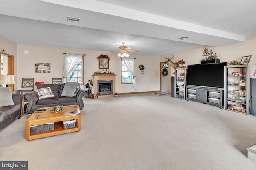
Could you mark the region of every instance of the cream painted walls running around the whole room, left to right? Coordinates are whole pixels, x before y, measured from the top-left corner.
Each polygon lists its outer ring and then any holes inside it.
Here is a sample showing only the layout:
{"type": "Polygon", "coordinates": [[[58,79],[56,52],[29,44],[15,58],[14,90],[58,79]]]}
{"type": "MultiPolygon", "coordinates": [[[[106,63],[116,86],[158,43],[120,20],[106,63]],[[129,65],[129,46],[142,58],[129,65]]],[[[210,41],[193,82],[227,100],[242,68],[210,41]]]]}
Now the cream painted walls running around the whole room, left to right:
{"type": "MultiPolygon", "coordinates": [[[[186,64],[200,64],[200,60],[203,58],[202,53],[205,46],[196,47],[184,51],[178,51],[174,54],[174,62],[180,59],[185,60],[186,64]]],[[[250,35],[246,37],[246,41],[242,43],[236,43],[233,45],[226,45],[222,47],[209,47],[219,55],[220,62],[230,62],[233,59],[241,60],[242,56],[252,55],[250,64],[256,64],[256,35],[250,35]]],[[[70,49],[62,47],[44,47],[34,45],[16,44],[2,36],[0,36],[0,48],[5,49],[6,53],[14,55],[14,74],[16,84],[14,89],[21,86],[22,78],[35,78],[36,81],[44,81],[45,83],[51,83],[52,78],[62,77],[64,55],[65,53],[86,54],[84,59],[84,80],[93,79],[92,74],[98,71],[98,59],[100,54],[106,54],[110,57],[109,67],[110,71],[118,74],[116,76],[116,92],[129,93],[129,92],[147,92],[158,91],[159,88],[159,63],[166,61],[165,55],[160,57],[157,55],[141,55],[139,53],[131,53],[131,57],[136,57],[137,68],[137,82],[138,90],[132,89],[132,84],[121,84],[120,80],[120,58],[116,53],[110,53],[106,51],[93,51],[86,49],[70,49]],[[24,50],[28,50],[29,53],[25,55],[24,50]],[[51,73],[35,73],[35,63],[51,63],[51,73]],[[138,66],[143,64],[145,66],[145,74],[142,75],[138,66]]],[[[167,57],[172,57],[172,54],[166,54],[167,57]]],[[[171,70],[170,74],[174,69],[171,70]]],[[[254,71],[251,69],[251,71],[254,71]]],[[[251,73],[250,73],[251,74],[251,73]]]]}

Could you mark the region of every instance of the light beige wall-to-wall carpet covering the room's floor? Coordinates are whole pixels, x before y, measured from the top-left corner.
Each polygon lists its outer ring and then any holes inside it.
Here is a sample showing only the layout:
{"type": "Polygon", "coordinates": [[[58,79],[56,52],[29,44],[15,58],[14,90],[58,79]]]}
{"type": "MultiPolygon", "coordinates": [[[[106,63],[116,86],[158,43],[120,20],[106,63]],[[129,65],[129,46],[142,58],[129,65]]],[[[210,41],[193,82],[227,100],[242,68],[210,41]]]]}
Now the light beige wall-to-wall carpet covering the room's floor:
{"type": "Polygon", "coordinates": [[[0,132],[0,160],[29,170],[255,170],[256,117],[170,95],[84,99],[80,132],[25,139],[26,115],[0,132]]]}

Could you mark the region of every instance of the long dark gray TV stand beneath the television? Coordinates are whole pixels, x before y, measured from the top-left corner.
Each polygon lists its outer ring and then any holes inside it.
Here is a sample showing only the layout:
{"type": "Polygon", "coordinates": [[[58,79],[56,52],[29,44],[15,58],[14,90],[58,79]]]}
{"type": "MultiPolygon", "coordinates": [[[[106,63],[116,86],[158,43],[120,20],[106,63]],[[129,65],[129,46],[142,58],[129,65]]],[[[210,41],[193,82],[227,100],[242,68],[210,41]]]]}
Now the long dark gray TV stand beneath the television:
{"type": "Polygon", "coordinates": [[[193,100],[222,108],[224,106],[224,88],[186,86],[186,100],[193,100]]]}

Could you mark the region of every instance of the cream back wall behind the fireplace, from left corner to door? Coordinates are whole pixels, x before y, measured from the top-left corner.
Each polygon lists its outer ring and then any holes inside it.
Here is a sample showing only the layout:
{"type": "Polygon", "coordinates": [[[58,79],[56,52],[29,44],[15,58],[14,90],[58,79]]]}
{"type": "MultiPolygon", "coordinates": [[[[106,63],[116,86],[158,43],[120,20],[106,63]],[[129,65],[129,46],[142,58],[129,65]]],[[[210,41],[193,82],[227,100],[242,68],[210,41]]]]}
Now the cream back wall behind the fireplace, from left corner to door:
{"type": "MultiPolygon", "coordinates": [[[[100,54],[110,57],[109,68],[116,76],[116,92],[147,92],[159,90],[159,56],[156,55],[140,55],[130,53],[131,57],[136,57],[135,63],[137,68],[138,90],[132,88],[132,84],[121,84],[121,59],[117,53],[107,51],[94,51],[86,49],[71,49],[63,47],[45,47],[34,45],[17,45],[17,87],[21,86],[22,78],[34,78],[34,81],[44,81],[51,83],[52,78],[62,78],[64,54],[86,54],[84,58],[84,82],[93,80],[92,74],[98,71],[98,59],[100,54]],[[23,51],[28,50],[28,54],[23,51]],[[51,73],[35,73],[35,63],[51,63],[51,73]],[[145,74],[142,75],[139,70],[139,64],[145,66],[145,74]]],[[[35,87],[36,88],[36,87],[35,87]]]]}

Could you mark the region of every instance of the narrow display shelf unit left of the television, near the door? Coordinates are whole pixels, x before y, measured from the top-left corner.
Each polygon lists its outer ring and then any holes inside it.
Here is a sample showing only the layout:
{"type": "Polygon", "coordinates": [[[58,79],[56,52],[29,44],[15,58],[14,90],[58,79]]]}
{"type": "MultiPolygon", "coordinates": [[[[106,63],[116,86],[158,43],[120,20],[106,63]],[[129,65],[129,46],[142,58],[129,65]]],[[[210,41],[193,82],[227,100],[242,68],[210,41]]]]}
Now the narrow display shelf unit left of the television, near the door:
{"type": "Polygon", "coordinates": [[[176,68],[174,77],[174,98],[185,100],[187,85],[187,69],[176,68]]]}

